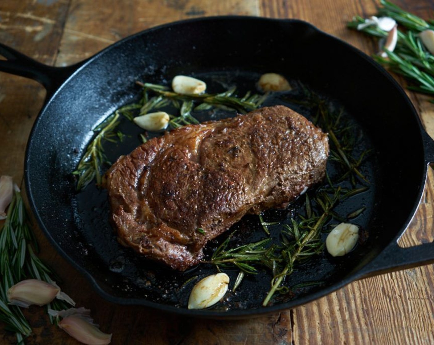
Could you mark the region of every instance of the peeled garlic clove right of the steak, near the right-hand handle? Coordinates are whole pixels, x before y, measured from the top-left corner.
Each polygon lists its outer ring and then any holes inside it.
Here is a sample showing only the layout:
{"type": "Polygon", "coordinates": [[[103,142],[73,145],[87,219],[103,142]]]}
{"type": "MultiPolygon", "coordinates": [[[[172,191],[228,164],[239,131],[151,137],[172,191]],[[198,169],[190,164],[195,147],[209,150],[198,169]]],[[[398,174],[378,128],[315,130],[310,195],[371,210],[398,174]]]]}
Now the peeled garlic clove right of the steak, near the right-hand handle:
{"type": "Polygon", "coordinates": [[[327,236],[325,247],[332,256],[343,256],[354,248],[357,240],[358,226],[340,223],[327,236]]]}

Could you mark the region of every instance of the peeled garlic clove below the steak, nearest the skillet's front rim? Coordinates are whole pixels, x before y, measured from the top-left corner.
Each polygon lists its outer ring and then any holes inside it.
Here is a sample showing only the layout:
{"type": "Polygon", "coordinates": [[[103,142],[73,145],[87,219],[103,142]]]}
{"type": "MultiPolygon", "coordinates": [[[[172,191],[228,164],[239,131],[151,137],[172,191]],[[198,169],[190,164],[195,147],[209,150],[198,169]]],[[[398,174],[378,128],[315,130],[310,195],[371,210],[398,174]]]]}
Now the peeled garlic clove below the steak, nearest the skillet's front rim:
{"type": "Polygon", "coordinates": [[[191,290],[188,309],[204,309],[216,304],[227,292],[229,276],[217,273],[199,281],[191,290]]]}

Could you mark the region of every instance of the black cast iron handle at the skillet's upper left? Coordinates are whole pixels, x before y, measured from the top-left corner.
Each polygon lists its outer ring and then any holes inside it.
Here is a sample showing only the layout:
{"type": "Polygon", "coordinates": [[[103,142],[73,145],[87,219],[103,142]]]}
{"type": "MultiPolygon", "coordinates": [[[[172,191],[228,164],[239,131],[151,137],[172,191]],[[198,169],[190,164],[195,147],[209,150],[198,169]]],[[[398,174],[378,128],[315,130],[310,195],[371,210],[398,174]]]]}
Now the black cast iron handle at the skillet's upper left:
{"type": "Polygon", "coordinates": [[[0,60],[0,71],[17,76],[30,78],[40,82],[47,91],[46,99],[49,99],[56,89],[62,85],[85,61],[67,67],[53,67],[40,63],[30,57],[0,43],[0,56],[6,60],[0,60]]]}

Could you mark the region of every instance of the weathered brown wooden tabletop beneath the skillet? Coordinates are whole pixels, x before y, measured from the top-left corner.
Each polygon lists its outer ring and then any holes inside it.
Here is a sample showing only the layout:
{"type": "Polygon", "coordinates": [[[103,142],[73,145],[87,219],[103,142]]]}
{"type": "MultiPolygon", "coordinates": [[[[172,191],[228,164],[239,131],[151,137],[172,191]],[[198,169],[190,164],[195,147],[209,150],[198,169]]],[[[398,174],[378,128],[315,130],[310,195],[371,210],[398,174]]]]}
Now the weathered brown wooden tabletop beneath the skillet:
{"type": "MultiPolygon", "coordinates": [[[[376,43],[348,30],[353,15],[376,12],[372,0],[2,0],[0,42],[54,66],[79,62],[111,43],[146,28],[184,18],[239,14],[299,18],[371,54],[376,43]]],[[[397,0],[427,19],[430,0],[397,0]]],[[[319,52],[320,54],[321,52],[319,52]]],[[[401,79],[398,79],[402,82],[401,79]]],[[[0,73],[0,174],[23,187],[23,156],[45,90],[28,79],[0,73]]],[[[434,137],[434,104],[409,92],[434,137]]],[[[431,170],[431,169],[430,169],[431,170]]],[[[432,241],[432,171],[418,213],[402,246],[432,241]]],[[[428,265],[356,281],[304,306],[258,319],[212,321],[118,306],[97,295],[89,283],[35,229],[40,257],[63,279],[62,289],[78,306],[92,310],[113,344],[434,344],[434,266],[428,265]]],[[[39,308],[26,312],[34,329],[29,344],[76,344],[49,324],[39,308]]],[[[1,325],[0,325],[1,326],[1,325]]],[[[0,331],[0,343],[14,338],[0,331]]]]}

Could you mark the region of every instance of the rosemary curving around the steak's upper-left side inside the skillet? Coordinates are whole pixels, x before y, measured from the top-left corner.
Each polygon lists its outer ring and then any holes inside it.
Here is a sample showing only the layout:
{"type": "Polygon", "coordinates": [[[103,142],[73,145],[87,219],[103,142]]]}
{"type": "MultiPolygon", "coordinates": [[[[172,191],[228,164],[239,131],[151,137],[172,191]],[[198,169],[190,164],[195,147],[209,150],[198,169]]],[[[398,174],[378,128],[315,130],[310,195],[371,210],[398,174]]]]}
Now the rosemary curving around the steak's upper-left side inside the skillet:
{"type": "MultiPolygon", "coordinates": [[[[209,111],[213,108],[225,108],[230,111],[246,113],[258,108],[268,96],[251,94],[247,92],[243,97],[237,97],[236,88],[227,91],[200,95],[181,95],[171,91],[165,85],[136,82],[142,88],[142,97],[138,102],[125,105],[117,109],[112,115],[106,118],[101,124],[96,126],[93,131],[95,137],[88,144],[85,154],[79,161],[76,171],[72,174],[78,176],[76,189],[82,190],[93,180],[96,184],[102,182],[102,171],[106,164],[110,164],[104,151],[104,141],[115,141],[116,136],[123,136],[115,133],[115,129],[120,123],[120,117],[125,116],[130,121],[135,116],[145,115],[151,111],[171,107],[177,112],[171,115],[169,122],[171,128],[183,125],[199,123],[192,112],[209,111]]],[[[141,141],[145,142],[145,135],[141,135],[141,141]]]]}

